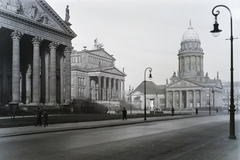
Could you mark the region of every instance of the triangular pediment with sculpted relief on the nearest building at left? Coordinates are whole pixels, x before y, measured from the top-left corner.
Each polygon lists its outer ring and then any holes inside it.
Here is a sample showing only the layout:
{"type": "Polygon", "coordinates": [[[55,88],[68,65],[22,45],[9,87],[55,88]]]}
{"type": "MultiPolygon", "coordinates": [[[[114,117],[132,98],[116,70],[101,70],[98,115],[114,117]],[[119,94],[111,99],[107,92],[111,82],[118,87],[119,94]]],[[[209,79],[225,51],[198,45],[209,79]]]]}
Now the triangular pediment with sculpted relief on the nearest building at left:
{"type": "Polygon", "coordinates": [[[76,36],[45,0],[0,0],[0,9],[12,13],[24,21],[50,27],[72,37],[76,36]]]}

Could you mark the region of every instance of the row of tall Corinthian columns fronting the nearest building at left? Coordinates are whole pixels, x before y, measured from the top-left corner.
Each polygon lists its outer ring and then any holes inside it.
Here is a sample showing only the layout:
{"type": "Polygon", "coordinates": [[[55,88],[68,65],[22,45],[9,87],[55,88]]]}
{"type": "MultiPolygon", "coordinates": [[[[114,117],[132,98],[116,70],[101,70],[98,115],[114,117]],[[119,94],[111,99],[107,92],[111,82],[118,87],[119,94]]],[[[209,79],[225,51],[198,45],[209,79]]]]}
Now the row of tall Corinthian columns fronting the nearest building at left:
{"type": "MultiPolygon", "coordinates": [[[[20,81],[20,41],[24,33],[20,31],[13,31],[12,37],[12,103],[22,103],[22,81],[20,81]]],[[[71,46],[64,46],[64,50],[57,48],[60,46],[57,42],[49,42],[49,48],[45,48],[41,52],[41,43],[44,41],[42,37],[36,36],[32,38],[33,45],[33,60],[29,64],[26,72],[26,102],[37,105],[44,101],[45,104],[55,105],[57,103],[70,103],[71,101],[71,62],[70,54],[72,51],[71,46]],[[49,51],[50,50],[50,51],[49,51]],[[61,51],[63,50],[63,51],[61,51]],[[63,53],[62,53],[63,52],[63,53]],[[58,54],[58,55],[57,55],[58,54]],[[44,55],[44,56],[41,56],[44,55]],[[43,58],[45,57],[45,59],[43,58]],[[57,58],[60,57],[60,58],[57,58]],[[59,60],[59,62],[58,62],[59,60]],[[44,62],[44,63],[43,63],[44,62]],[[41,65],[45,66],[42,67],[41,65]],[[57,65],[60,67],[60,87],[57,88],[57,65]],[[32,65],[32,67],[31,67],[32,65]],[[32,68],[32,69],[31,69],[32,68]],[[42,69],[44,68],[44,71],[42,69]],[[31,82],[28,82],[31,81],[31,82]],[[42,83],[43,81],[43,83],[42,83]],[[41,86],[41,84],[44,84],[41,86]],[[58,90],[60,90],[58,92],[58,90]],[[44,91],[44,93],[41,93],[44,91]],[[60,100],[57,101],[57,95],[60,94],[60,100]],[[31,98],[28,99],[28,96],[31,98]],[[44,96],[44,97],[41,97],[44,96]]],[[[47,41],[48,42],[48,41],[47,41]]],[[[63,47],[61,47],[63,48],[63,47]]],[[[27,57],[26,57],[27,58],[27,57]]]]}

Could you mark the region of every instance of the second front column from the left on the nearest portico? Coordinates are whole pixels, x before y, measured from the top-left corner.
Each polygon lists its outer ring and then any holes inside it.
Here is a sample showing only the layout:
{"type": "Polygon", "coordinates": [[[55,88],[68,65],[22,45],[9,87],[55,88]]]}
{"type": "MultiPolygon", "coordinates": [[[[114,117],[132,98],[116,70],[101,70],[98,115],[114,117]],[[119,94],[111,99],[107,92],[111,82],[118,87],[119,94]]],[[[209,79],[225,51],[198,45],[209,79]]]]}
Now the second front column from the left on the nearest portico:
{"type": "Polygon", "coordinates": [[[33,43],[33,79],[32,79],[32,85],[33,85],[33,104],[39,104],[40,103],[40,43],[43,39],[40,37],[34,37],[32,39],[33,43]]]}

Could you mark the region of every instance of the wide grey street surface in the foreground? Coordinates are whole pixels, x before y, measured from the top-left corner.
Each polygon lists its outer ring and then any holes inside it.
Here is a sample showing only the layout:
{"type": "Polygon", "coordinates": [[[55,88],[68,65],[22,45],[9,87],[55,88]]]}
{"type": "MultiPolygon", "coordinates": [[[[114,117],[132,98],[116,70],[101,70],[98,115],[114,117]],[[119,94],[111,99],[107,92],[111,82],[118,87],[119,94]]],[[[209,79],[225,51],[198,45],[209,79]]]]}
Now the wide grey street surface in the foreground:
{"type": "Polygon", "coordinates": [[[229,115],[0,138],[0,160],[238,160],[229,115]]]}

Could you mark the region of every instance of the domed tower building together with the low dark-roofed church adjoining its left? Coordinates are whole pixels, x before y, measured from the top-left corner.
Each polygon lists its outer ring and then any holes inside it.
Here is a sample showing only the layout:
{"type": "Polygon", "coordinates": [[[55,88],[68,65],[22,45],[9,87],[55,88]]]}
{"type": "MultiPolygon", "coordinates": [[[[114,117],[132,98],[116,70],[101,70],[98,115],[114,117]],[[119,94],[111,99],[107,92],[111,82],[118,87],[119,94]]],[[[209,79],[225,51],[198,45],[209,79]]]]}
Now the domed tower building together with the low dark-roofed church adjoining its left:
{"type": "MultiPolygon", "coordinates": [[[[172,107],[175,109],[221,107],[222,82],[218,73],[214,79],[211,79],[207,72],[204,75],[203,57],[199,36],[190,24],[182,36],[178,52],[178,72],[173,73],[170,82],[166,80],[166,85],[147,82],[147,108],[155,110],[172,107]]],[[[143,108],[143,82],[127,97],[135,107],[143,108]]]]}

